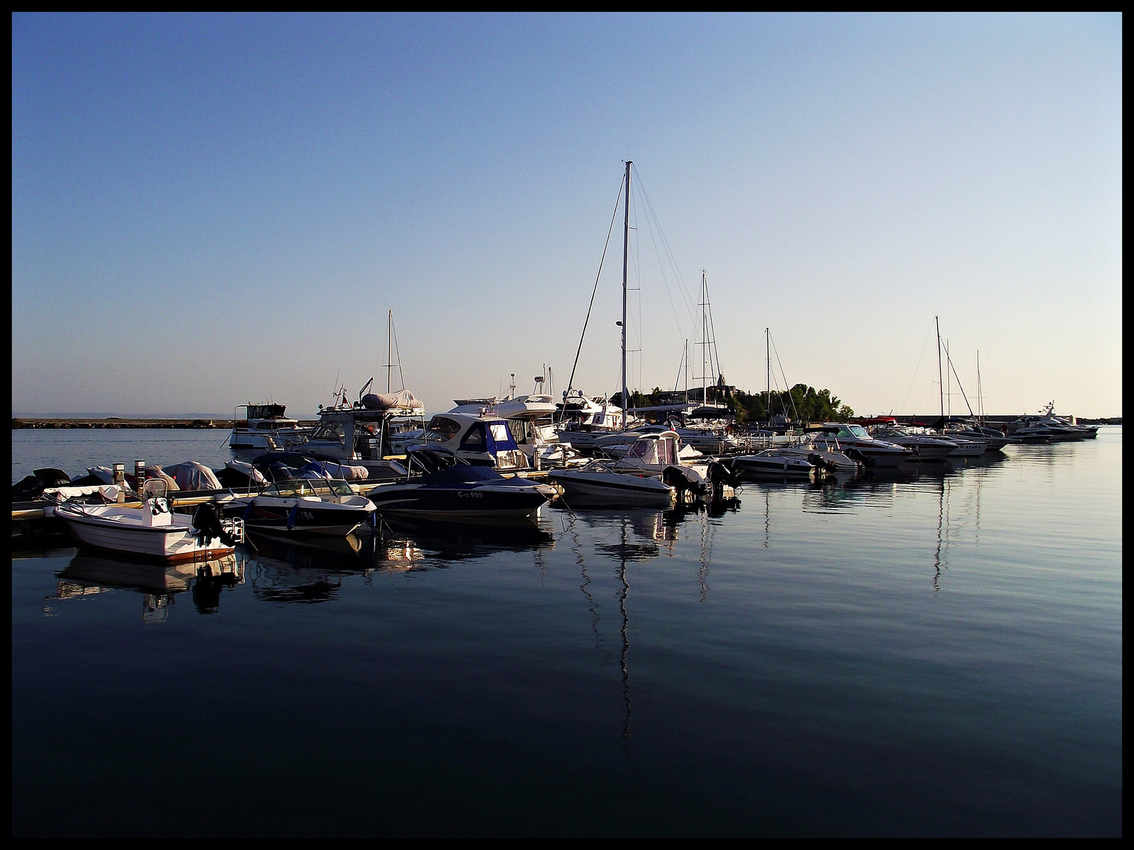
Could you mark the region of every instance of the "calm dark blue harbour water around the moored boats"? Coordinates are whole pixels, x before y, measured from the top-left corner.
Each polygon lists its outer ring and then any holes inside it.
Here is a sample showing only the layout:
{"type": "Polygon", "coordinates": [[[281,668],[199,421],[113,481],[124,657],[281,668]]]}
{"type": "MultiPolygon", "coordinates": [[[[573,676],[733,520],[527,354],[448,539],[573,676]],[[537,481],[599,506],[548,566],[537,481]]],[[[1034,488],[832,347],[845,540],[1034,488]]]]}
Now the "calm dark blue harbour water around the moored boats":
{"type": "MultiPolygon", "coordinates": [[[[12,432],[12,478],[225,436],[12,432]]],[[[1119,835],[1120,467],[1103,427],[166,593],[17,558],[14,832],[1119,835]]]]}

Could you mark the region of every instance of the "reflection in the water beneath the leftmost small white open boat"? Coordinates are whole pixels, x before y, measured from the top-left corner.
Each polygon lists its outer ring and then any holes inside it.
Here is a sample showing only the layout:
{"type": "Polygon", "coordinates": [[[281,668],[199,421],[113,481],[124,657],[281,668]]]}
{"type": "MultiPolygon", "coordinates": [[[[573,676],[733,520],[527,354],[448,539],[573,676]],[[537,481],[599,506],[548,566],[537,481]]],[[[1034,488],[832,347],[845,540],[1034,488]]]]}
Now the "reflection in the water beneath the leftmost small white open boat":
{"type": "MultiPolygon", "coordinates": [[[[75,600],[112,589],[142,594],[142,621],[164,622],[178,594],[191,592],[201,614],[217,613],[221,593],[244,584],[244,563],[235,554],[209,561],[163,563],[92,554],[81,550],[56,573],[57,590],[45,602],[75,600]]],[[[51,615],[53,607],[44,605],[51,615]]]]}

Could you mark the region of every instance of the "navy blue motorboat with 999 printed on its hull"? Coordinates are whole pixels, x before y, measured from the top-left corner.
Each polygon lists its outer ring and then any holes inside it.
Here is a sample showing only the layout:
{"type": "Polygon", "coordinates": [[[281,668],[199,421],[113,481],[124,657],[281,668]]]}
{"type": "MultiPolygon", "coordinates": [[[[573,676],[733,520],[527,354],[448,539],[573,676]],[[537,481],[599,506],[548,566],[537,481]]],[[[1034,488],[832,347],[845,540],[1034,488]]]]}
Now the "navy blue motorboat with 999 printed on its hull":
{"type": "Polygon", "coordinates": [[[547,484],[471,464],[445,445],[409,447],[406,464],[421,474],[380,484],[367,494],[380,513],[455,521],[531,517],[557,494],[547,484]]]}

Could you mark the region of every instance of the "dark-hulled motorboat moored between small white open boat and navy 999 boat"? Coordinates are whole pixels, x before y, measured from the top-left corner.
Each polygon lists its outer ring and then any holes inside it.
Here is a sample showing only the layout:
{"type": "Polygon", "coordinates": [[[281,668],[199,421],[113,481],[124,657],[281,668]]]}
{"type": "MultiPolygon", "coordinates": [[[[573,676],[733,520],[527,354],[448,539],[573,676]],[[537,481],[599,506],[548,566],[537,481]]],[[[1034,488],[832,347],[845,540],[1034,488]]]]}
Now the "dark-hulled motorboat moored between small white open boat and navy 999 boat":
{"type": "Polygon", "coordinates": [[[346,481],[287,478],[256,495],[225,500],[222,511],[249,532],[346,537],[371,520],[374,504],[346,481]]]}

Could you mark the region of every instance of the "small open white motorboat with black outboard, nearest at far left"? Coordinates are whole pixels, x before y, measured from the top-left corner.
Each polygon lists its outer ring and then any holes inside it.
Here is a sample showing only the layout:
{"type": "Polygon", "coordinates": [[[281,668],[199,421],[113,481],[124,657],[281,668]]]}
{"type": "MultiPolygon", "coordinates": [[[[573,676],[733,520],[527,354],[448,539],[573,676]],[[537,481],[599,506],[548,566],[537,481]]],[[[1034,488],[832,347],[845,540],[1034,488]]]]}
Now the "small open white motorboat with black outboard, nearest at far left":
{"type": "Polygon", "coordinates": [[[221,519],[211,503],[192,516],[174,513],[160,478],[145,482],[141,499],[139,505],[65,502],[54,516],[66,520],[85,546],[171,562],[220,558],[243,538],[239,521],[221,519]]]}

